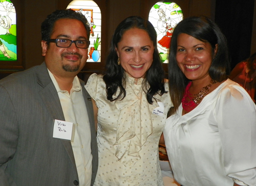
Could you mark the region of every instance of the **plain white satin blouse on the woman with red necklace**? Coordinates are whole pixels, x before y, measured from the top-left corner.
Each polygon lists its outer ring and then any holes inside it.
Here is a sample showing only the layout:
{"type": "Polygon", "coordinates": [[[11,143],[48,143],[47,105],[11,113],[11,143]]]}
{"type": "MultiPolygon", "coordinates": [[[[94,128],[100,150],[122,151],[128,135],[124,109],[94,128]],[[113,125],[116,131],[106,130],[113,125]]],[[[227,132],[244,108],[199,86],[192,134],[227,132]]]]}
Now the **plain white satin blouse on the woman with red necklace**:
{"type": "Polygon", "coordinates": [[[183,186],[256,185],[256,106],[227,79],[192,111],[166,120],[164,140],[183,186]]]}

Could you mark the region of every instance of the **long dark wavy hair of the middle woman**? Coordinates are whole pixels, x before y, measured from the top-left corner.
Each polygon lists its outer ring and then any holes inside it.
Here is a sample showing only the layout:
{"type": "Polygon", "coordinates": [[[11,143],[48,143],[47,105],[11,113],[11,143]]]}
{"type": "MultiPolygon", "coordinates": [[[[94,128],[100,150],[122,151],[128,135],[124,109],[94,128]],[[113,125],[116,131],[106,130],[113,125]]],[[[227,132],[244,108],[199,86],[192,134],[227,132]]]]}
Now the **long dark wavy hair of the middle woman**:
{"type": "Polygon", "coordinates": [[[145,20],[139,16],[131,16],[124,19],[116,28],[115,33],[111,40],[110,52],[106,59],[105,72],[103,80],[106,84],[106,96],[110,101],[116,99],[123,99],[126,95],[125,92],[125,71],[121,65],[118,65],[117,60],[117,44],[122,39],[125,31],[138,28],[147,32],[150,39],[153,41],[155,47],[153,53],[153,63],[146,71],[145,78],[142,84],[143,90],[146,93],[148,103],[153,103],[155,94],[163,95],[164,89],[164,70],[160,61],[160,56],[157,49],[157,33],[154,26],[150,21],[145,20]],[[147,86],[149,85],[149,86],[147,86]],[[120,90],[116,98],[113,95],[120,90]]]}

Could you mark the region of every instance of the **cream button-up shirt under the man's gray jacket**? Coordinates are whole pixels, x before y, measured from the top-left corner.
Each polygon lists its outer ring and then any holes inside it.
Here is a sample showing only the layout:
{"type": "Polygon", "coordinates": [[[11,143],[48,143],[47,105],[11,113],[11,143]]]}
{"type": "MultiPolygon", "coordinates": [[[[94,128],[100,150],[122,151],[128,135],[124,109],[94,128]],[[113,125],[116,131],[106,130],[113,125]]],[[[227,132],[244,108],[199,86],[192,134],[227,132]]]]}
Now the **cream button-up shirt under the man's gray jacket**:
{"type": "Polygon", "coordinates": [[[75,138],[71,145],[75,156],[79,185],[90,186],[92,179],[91,129],[81,84],[78,77],[75,76],[69,94],[66,90],[60,90],[55,77],[50,70],[48,71],[58,92],[65,121],[75,124],[75,138]]]}

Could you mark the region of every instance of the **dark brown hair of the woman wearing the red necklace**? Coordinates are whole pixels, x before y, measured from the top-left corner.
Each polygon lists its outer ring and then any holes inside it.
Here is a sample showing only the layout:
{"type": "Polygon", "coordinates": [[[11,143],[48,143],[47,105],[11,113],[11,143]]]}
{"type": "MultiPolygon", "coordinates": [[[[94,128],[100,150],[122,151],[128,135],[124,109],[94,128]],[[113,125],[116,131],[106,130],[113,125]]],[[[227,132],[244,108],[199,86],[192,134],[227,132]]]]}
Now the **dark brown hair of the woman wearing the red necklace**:
{"type": "Polygon", "coordinates": [[[177,38],[181,33],[190,35],[200,41],[208,42],[211,45],[213,59],[209,68],[209,75],[212,79],[222,82],[227,78],[227,74],[230,71],[226,38],[217,24],[203,16],[188,17],[179,22],[173,32],[168,58],[169,92],[174,104],[171,115],[177,111],[181,104],[184,90],[189,83],[189,79],[182,73],[176,61],[177,38]],[[216,44],[218,44],[218,50],[214,55],[216,44]]]}

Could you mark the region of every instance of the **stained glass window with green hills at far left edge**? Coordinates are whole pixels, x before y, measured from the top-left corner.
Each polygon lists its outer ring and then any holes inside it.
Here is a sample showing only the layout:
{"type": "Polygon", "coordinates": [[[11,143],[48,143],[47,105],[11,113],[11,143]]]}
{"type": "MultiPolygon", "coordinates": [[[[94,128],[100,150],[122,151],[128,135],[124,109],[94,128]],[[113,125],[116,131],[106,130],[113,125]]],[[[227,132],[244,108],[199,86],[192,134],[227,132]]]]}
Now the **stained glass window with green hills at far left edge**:
{"type": "Polygon", "coordinates": [[[0,0],[0,61],[17,61],[16,11],[10,0],[0,0]]]}

